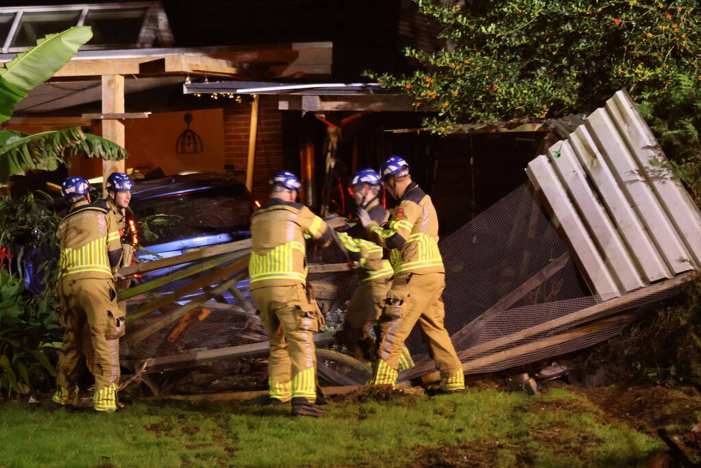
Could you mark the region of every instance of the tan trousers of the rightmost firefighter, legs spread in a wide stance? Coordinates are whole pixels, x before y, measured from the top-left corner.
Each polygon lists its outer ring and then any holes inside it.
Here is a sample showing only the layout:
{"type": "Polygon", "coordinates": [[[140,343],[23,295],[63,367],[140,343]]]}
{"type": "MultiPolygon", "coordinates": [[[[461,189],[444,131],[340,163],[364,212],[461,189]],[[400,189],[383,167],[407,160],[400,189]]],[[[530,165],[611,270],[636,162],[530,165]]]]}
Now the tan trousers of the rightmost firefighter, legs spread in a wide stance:
{"type": "Polygon", "coordinates": [[[418,323],[429,355],[440,371],[441,388],[451,392],[465,388],[463,366],[443,324],[444,288],[444,273],[407,273],[395,277],[379,319],[382,339],[372,383],[397,382],[404,340],[418,323]]]}

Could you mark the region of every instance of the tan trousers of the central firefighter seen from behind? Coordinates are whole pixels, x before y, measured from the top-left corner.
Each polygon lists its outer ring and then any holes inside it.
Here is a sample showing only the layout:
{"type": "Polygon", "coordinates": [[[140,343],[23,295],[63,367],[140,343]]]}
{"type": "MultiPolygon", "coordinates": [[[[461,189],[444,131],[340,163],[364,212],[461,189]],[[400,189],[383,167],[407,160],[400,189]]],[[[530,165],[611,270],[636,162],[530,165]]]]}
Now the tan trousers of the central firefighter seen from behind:
{"type": "Polygon", "coordinates": [[[316,399],[316,348],[321,312],[302,284],[252,289],[270,343],[268,385],[271,398],[316,399]]]}

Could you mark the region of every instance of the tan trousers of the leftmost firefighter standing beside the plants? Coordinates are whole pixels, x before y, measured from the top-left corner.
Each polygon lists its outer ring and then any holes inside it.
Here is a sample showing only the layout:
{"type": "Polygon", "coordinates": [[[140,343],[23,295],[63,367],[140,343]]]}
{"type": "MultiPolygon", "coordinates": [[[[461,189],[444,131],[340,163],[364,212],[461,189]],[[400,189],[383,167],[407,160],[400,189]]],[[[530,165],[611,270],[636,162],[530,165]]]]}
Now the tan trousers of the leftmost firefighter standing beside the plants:
{"type": "Polygon", "coordinates": [[[70,276],[60,280],[62,303],[61,325],[63,345],[58,357],[56,383],[59,389],[72,394],[81,375],[83,326],[88,324],[95,375],[95,409],[114,411],[119,381],[119,338],[124,335],[124,314],[116,302],[112,280],[70,276]]]}

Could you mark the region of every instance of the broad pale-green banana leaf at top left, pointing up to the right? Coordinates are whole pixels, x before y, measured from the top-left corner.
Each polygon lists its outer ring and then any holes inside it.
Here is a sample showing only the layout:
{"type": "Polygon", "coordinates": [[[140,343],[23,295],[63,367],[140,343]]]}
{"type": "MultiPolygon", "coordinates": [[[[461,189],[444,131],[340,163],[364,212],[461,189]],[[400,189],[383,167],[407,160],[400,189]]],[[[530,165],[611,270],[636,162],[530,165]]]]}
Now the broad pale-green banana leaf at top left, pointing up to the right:
{"type": "Polygon", "coordinates": [[[0,76],[20,90],[29,91],[56,74],[78,52],[78,48],[93,38],[89,26],[76,26],[57,34],[48,34],[6,62],[0,76]]]}

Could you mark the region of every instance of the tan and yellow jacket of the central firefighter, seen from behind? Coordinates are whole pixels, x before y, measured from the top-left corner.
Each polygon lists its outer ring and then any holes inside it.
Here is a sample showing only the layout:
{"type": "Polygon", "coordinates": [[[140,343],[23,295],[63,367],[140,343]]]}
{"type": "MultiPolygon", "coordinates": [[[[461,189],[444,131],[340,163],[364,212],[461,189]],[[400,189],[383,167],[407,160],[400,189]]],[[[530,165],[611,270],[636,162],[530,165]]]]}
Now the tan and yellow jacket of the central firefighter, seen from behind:
{"type": "Polygon", "coordinates": [[[305,236],[320,247],[333,240],[327,223],[304,205],[271,198],[251,216],[250,289],[306,283],[305,236]]]}

